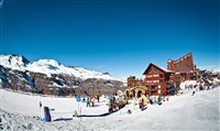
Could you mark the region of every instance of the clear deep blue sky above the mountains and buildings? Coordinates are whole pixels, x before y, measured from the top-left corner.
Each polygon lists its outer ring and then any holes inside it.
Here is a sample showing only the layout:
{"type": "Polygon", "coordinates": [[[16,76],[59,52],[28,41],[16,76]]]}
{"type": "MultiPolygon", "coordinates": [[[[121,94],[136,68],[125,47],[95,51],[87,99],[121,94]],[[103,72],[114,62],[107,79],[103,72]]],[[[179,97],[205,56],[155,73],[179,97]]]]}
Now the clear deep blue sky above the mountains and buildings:
{"type": "Polygon", "coordinates": [[[148,63],[193,52],[220,64],[218,0],[4,0],[1,54],[142,76],[148,63]]]}

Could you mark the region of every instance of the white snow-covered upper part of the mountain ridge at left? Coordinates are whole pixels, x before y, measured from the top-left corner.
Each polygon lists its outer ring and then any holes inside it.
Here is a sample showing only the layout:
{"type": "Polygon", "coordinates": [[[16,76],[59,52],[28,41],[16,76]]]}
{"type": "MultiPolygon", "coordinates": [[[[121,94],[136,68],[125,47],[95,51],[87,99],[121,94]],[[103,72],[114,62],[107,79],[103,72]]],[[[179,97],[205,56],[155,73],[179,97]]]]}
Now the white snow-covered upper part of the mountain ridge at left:
{"type": "Polygon", "coordinates": [[[47,76],[51,76],[52,74],[66,74],[79,77],[81,79],[99,78],[118,80],[109,74],[88,70],[82,67],[67,67],[54,59],[38,59],[30,63],[26,58],[20,55],[0,55],[0,65],[18,70],[42,73],[46,74],[47,76]]]}

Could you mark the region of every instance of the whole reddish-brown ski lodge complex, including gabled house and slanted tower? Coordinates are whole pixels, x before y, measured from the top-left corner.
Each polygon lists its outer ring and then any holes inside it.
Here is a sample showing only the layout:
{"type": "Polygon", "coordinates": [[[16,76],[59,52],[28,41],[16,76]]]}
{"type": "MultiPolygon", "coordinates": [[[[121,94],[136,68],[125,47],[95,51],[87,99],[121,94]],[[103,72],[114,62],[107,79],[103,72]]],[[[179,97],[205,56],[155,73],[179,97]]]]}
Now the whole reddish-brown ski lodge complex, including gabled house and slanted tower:
{"type": "Polygon", "coordinates": [[[145,94],[148,96],[167,96],[175,95],[179,85],[184,80],[195,79],[199,74],[199,69],[194,64],[193,54],[187,53],[178,59],[168,59],[167,69],[156,64],[150,63],[143,75],[144,79],[128,77],[127,96],[140,96],[145,94]]]}

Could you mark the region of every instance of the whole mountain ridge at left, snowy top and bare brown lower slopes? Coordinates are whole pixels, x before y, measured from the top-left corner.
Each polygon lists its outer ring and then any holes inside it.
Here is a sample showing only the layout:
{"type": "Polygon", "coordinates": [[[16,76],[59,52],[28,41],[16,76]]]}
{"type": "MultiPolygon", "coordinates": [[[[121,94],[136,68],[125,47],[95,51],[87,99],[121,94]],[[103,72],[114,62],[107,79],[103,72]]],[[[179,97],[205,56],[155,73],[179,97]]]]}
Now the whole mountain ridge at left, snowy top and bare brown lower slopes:
{"type": "Polygon", "coordinates": [[[30,62],[21,55],[0,55],[0,87],[64,96],[85,91],[113,94],[124,88],[108,73],[65,66],[54,59],[30,62]]]}

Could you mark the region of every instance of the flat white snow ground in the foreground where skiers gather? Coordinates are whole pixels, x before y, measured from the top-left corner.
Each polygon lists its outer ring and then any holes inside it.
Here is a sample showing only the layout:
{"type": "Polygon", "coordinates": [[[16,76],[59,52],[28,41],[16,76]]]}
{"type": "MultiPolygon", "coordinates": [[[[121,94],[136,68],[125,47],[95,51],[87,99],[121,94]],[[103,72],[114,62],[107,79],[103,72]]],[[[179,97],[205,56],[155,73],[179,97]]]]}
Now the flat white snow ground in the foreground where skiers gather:
{"type": "MultiPolygon", "coordinates": [[[[46,130],[46,131],[73,131],[73,130],[113,130],[113,131],[219,131],[220,130],[220,88],[196,91],[191,90],[180,96],[169,97],[169,101],[158,105],[147,105],[147,109],[141,111],[132,103],[125,106],[107,117],[74,118],[73,110],[77,109],[75,98],[56,98],[23,95],[2,90],[0,97],[2,127],[9,130],[46,130]],[[64,120],[43,122],[38,101],[43,106],[55,109],[52,119],[64,120]],[[132,113],[128,114],[127,111],[132,113]]],[[[97,107],[86,107],[79,102],[84,114],[100,114],[107,112],[106,98],[97,107]]],[[[97,103],[97,102],[96,102],[97,103]]]]}

